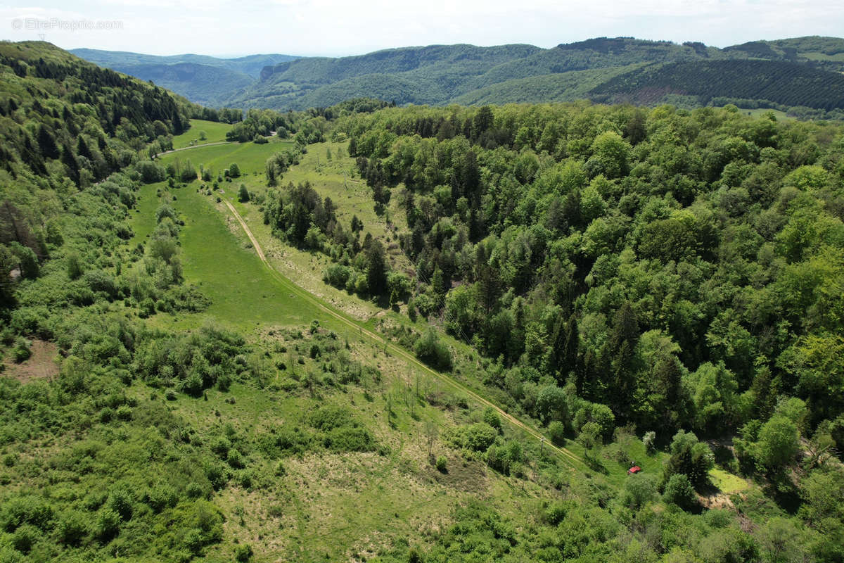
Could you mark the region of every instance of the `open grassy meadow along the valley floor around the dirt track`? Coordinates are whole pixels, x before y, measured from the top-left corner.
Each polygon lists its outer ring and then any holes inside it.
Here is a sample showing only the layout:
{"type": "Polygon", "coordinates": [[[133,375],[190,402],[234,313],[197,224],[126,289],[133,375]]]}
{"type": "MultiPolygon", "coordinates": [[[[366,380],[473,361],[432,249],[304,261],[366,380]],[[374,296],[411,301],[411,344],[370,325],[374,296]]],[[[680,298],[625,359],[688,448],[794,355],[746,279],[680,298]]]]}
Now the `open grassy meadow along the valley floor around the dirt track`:
{"type": "MultiPolygon", "coordinates": [[[[597,483],[620,488],[626,479],[635,479],[626,473],[630,460],[644,474],[662,475],[667,454],[648,454],[636,436],[623,436],[604,447],[598,463],[587,468],[578,461],[585,452],[576,442],[565,444],[565,455],[555,452],[547,441],[541,448],[535,430],[540,429],[538,423],[523,420],[527,427],[520,427],[515,419],[505,425],[506,435],[523,445],[527,479],[495,473],[481,459],[467,459],[441,439],[435,441],[434,449],[436,455],[447,457],[449,470],[446,474],[436,471],[428,459],[425,423],[432,421],[439,436],[444,436],[455,425],[480,420],[486,405],[479,397],[487,392],[480,383],[479,359],[468,345],[441,334],[457,353],[457,368],[438,376],[406,351],[379,344],[382,325],[409,325],[407,315],[382,311],[370,301],[324,284],[321,278],[328,264],[326,257],[285,245],[263,225],[258,204],[237,201],[241,182],[260,199],[268,189],[264,162],[286,145],[226,144],[165,155],[165,163],[189,156],[192,165],[210,167],[215,174],[236,162],[242,176],[222,182],[222,189],[211,195],[203,193],[200,181],[186,187],[168,188],[166,182],[143,187],[131,241],[134,246],[149,235],[154,228],[154,211],[161,203],[172,205],[185,221],[180,234],[185,279],[197,284],[212,300],[201,313],[158,313],[149,318],[150,325],[193,330],[210,321],[237,328],[252,343],[268,350],[256,361],[283,366],[274,371],[271,384],[285,389],[296,387],[296,372],[299,377],[322,373],[322,360],[308,358],[306,344],[282,336],[303,333],[316,321],[319,331],[333,332],[348,343],[354,360],[372,365],[381,373],[381,382],[344,386],[339,393],[317,391],[306,397],[235,385],[228,394],[209,390],[208,403],[181,396],[172,403],[172,408],[194,427],[212,428],[230,422],[238,432],[255,435],[277,425],[306,424],[311,409],[333,402],[348,406],[378,443],[387,447],[381,453],[310,452],[285,458],[286,473],[269,490],[226,489],[217,501],[226,517],[225,533],[251,544],[255,560],[373,560],[400,538],[436,533],[450,525],[454,506],[469,498],[486,499],[503,515],[518,520],[524,517],[526,507],[559,495],[552,484],[560,480],[573,487],[597,483]],[[273,269],[258,257],[224,199],[241,214],[273,269]],[[325,303],[335,309],[326,308],[325,303]],[[276,352],[271,351],[273,347],[276,352]],[[279,349],[289,351],[279,354],[279,349]],[[295,356],[299,360],[294,362],[295,356]],[[410,392],[414,384],[421,387],[419,397],[450,398],[446,403],[464,402],[468,408],[433,407],[410,392]],[[366,510],[360,510],[361,506],[366,510]]],[[[368,188],[352,174],[352,160],[337,157],[340,147],[336,143],[311,145],[300,165],[285,174],[284,183],[310,181],[323,197],[338,203],[340,220],[348,221],[356,214],[364,221],[365,231],[388,246],[396,233],[387,217],[375,213],[368,188]]],[[[404,229],[403,214],[394,203],[389,214],[395,225],[404,229]]],[[[394,268],[409,267],[400,252],[393,257],[394,268]]],[[[416,324],[424,328],[425,321],[416,324]]],[[[138,392],[147,390],[139,388],[138,392]]],[[[267,473],[271,470],[264,469],[267,473]]],[[[711,475],[713,485],[722,493],[748,486],[744,479],[721,469],[711,475]]],[[[212,551],[208,560],[223,561],[227,556],[222,550],[212,551]]]]}

